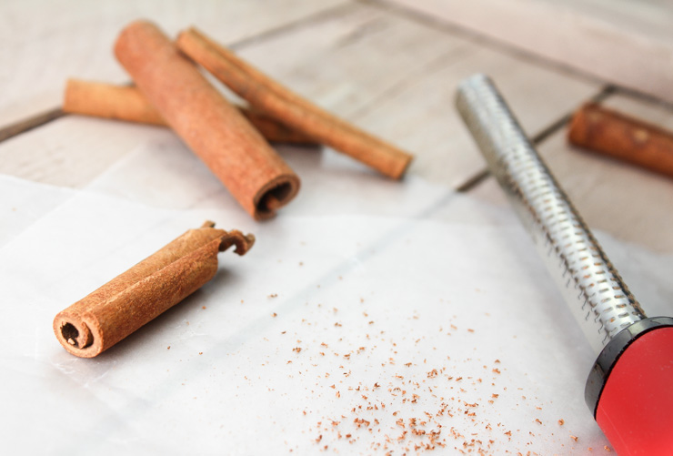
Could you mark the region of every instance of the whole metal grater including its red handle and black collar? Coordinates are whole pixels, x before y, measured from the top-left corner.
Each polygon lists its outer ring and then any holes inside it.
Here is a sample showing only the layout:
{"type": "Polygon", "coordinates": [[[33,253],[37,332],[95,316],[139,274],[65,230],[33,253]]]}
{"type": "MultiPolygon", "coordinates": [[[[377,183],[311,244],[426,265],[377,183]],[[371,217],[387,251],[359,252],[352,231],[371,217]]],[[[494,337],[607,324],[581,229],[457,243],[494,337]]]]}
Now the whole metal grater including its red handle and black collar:
{"type": "Polygon", "coordinates": [[[585,400],[620,455],[673,451],[673,319],[648,319],[487,76],[457,109],[598,358],[585,400]]]}

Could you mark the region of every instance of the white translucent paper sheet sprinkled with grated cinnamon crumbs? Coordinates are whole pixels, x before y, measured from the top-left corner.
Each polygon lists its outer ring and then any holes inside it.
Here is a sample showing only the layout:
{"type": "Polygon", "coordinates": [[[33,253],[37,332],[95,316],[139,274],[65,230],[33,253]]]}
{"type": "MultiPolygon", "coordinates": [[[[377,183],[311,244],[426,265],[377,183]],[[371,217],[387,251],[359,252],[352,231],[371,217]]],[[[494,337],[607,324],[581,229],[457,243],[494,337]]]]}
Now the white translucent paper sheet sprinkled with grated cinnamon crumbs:
{"type": "MultiPolygon", "coordinates": [[[[168,136],[76,192],[0,177],[5,451],[606,451],[595,354],[508,208],[282,153],[303,187],[265,223],[168,136]],[[101,356],[60,347],[58,311],[206,219],[255,247],[101,356]]],[[[598,237],[648,314],[672,314],[673,258],[598,237]]]]}

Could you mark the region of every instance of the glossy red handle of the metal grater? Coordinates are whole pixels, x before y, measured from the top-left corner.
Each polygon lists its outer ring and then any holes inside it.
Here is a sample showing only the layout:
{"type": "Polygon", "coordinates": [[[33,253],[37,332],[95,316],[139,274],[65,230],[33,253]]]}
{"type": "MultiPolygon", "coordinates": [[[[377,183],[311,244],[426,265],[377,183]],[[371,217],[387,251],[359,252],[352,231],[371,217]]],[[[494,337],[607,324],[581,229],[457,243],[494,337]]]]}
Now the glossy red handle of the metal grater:
{"type": "Polygon", "coordinates": [[[600,394],[596,421],[619,456],[673,455],[673,328],[628,345],[600,394]]]}

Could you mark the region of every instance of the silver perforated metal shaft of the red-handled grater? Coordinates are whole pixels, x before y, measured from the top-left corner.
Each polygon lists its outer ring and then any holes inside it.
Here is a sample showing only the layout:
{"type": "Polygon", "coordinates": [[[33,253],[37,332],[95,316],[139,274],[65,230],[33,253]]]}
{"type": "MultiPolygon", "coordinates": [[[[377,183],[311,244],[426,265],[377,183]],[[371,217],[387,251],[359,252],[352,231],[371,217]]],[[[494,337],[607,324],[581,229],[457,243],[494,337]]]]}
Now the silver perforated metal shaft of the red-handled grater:
{"type": "Polygon", "coordinates": [[[598,241],[484,75],[458,86],[457,109],[597,354],[645,319],[598,241]]]}

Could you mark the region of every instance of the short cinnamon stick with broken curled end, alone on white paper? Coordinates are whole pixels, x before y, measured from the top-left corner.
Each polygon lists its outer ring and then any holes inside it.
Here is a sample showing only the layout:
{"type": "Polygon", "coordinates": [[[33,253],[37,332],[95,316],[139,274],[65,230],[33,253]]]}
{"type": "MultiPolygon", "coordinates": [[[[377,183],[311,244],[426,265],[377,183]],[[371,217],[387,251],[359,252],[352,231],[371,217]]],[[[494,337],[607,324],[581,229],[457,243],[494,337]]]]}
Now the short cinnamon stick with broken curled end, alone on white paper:
{"type": "Polygon", "coordinates": [[[255,237],[214,228],[190,229],[166,247],[75,302],[54,319],[56,339],[70,353],[93,358],[170,309],[215,276],[217,253],[244,255],[255,237]]]}

